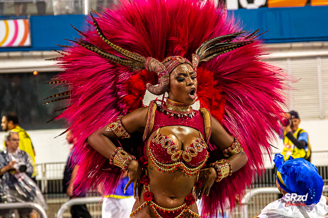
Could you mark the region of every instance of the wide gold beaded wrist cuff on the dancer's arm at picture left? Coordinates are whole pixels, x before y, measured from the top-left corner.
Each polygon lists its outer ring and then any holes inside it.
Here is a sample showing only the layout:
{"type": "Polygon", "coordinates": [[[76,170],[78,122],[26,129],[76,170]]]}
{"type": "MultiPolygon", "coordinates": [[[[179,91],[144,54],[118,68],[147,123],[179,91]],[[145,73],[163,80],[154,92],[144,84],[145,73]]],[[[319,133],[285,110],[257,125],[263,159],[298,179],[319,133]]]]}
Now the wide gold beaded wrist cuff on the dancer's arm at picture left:
{"type": "Polygon", "coordinates": [[[109,163],[121,167],[124,171],[128,169],[129,163],[136,157],[124,151],[121,147],[115,149],[109,158],[109,163]]]}

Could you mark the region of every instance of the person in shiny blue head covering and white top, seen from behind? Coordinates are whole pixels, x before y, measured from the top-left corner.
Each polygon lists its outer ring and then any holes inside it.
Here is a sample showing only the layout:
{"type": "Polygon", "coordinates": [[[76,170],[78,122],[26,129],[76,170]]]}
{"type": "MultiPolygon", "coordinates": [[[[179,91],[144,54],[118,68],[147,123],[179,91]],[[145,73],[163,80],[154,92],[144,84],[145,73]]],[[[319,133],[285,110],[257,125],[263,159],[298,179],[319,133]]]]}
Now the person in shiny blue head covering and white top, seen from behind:
{"type": "Polygon", "coordinates": [[[276,154],[276,185],[281,199],[268,204],[254,218],[321,218],[328,213],[328,198],[322,195],[324,181],[318,169],[303,158],[276,154]]]}

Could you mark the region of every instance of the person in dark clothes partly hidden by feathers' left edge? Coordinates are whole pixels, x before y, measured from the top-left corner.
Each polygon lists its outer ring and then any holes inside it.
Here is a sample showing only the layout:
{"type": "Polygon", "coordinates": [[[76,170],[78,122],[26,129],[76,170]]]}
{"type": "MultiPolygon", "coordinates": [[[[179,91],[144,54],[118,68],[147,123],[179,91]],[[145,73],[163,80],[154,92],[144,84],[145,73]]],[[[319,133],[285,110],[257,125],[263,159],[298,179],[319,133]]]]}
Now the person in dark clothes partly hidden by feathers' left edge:
{"type": "MultiPolygon", "coordinates": [[[[66,134],[66,139],[70,144],[74,144],[74,139],[70,131],[66,134]]],[[[75,177],[79,170],[79,165],[75,163],[75,157],[71,152],[64,170],[63,178],[63,192],[66,193],[71,199],[76,197],[86,197],[85,191],[77,191],[74,188],[75,177]]],[[[72,218],[91,218],[90,213],[87,211],[86,205],[73,205],[71,207],[72,218]]]]}

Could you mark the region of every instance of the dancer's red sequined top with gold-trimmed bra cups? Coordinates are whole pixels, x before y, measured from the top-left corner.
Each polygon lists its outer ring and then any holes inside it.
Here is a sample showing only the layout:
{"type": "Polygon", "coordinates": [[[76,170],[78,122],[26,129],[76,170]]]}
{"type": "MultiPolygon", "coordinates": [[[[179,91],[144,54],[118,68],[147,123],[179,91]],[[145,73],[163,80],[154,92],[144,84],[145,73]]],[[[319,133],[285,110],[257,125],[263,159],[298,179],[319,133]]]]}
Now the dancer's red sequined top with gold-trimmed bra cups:
{"type": "Polygon", "coordinates": [[[173,172],[179,168],[188,176],[198,173],[209,157],[207,143],[204,140],[206,137],[205,124],[201,112],[193,110],[193,116],[183,119],[176,118],[174,115],[171,116],[163,111],[162,108],[156,109],[154,112],[154,129],[152,129],[152,132],[157,129],[157,133],[151,139],[147,150],[147,156],[151,159],[152,163],[162,172],[173,172]],[[203,137],[194,140],[185,151],[179,150],[179,145],[175,144],[171,138],[159,132],[161,127],[175,125],[195,128],[203,137]]]}

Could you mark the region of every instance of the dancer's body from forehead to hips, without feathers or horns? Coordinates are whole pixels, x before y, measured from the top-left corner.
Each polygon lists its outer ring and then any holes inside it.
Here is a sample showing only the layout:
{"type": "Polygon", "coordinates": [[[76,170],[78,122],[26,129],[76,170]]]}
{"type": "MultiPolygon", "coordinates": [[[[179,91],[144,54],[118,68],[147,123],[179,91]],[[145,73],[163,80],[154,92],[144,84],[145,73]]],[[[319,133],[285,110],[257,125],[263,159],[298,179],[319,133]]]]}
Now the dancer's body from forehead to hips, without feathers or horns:
{"type": "MultiPolygon", "coordinates": [[[[171,67],[165,63],[166,68],[171,67]]],[[[195,198],[201,199],[204,193],[208,196],[215,180],[220,181],[247,162],[238,140],[231,137],[208,110],[192,109],[197,93],[196,72],[191,63],[177,64],[170,73],[168,98],[163,105],[157,106],[156,102],[152,102],[150,107],[136,109],[88,137],[91,147],[128,170],[130,180],[126,188],[131,182],[136,184],[134,196],[137,201],[132,213],[135,217],[147,217],[148,214],[165,217],[168,211],[174,212],[174,217],[182,217],[185,212],[196,215],[195,198]],[[138,130],[144,132],[146,141],[144,154],[148,164],[145,168],[135,157],[111,142],[129,137],[129,133],[138,130]],[[211,167],[201,169],[209,156],[209,140],[218,150],[225,151],[229,158],[217,160],[210,164],[211,167]],[[237,143],[236,146],[234,143],[237,143]],[[228,152],[230,147],[232,149],[228,152]],[[145,205],[151,208],[139,212],[145,205]]]]}

